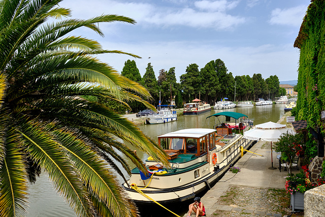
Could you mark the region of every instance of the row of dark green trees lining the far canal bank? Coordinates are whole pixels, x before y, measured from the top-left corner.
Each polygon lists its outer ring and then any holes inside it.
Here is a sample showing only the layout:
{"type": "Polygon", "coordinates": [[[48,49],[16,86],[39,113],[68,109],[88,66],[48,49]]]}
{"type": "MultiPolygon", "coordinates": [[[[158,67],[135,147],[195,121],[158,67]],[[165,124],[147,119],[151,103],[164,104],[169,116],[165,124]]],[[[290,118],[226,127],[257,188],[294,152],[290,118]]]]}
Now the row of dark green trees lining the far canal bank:
{"type": "MultiPolygon", "coordinates": [[[[221,59],[211,60],[204,68],[199,70],[197,64],[190,64],[186,67],[185,73],[179,77],[177,82],[175,67],[168,71],[159,70],[158,78],[155,77],[153,66],[148,63],[146,72],[141,77],[135,60],[127,60],[121,71],[121,75],[142,84],[150,92],[152,105],[170,104],[171,98],[175,97],[178,108],[184,103],[200,98],[201,101],[214,105],[223,98],[231,101],[253,101],[256,98],[274,99],[285,92],[279,86],[279,78],[274,75],[264,79],[261,74],[233,76],[228,73],[224,62],[221,59]],[[235,95],[236,92],[236,95],[235,95]]],[[[138,102],[129,103],[133,111],[143,108],[138,102]]]]}

